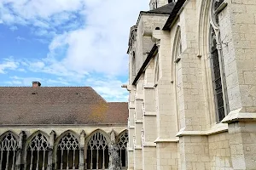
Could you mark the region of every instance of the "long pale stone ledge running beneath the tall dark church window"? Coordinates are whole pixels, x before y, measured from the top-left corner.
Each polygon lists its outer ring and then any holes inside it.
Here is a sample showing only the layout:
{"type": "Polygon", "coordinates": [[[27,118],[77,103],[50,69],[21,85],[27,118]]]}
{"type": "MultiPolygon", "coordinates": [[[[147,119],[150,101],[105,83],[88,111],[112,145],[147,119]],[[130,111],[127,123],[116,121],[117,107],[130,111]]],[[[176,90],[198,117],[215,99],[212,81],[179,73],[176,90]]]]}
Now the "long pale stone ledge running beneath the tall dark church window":
{"type": "Polygon", "coordinates": [[[182,136],[209,136],[209,135],[212,135],[212,134],[228,132],[228,129],[229,129],[228,124],[218,123],[207,131],[186,131],[185,128],[182,128],[176,134],[176,136],[177,137],[182,137],[182,136]]]}

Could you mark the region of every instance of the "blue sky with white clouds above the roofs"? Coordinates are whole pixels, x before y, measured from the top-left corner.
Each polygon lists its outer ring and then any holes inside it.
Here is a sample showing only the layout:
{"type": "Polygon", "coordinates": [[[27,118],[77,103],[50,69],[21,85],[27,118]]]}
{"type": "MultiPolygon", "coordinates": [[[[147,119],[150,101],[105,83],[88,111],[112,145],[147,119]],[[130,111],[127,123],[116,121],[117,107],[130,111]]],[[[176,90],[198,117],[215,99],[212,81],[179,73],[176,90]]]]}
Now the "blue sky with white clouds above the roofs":
{"type": "Polygon", "coordinates": [[[90,86],[127,101],[128,40],[149,0],[0,0],[0,86],[90,86]]]}

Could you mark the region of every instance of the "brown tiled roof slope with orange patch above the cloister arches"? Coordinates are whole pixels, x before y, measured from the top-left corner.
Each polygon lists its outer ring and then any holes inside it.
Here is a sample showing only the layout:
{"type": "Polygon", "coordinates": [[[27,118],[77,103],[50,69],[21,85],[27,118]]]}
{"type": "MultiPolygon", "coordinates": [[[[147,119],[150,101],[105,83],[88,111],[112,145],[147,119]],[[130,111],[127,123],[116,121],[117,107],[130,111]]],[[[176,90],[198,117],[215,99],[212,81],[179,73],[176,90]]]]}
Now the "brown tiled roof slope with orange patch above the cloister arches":
{"type": "Polygon", "coordinates": [[[127,103],[93,88],[0,88],[0,125],[127,124],[127,103]]]}

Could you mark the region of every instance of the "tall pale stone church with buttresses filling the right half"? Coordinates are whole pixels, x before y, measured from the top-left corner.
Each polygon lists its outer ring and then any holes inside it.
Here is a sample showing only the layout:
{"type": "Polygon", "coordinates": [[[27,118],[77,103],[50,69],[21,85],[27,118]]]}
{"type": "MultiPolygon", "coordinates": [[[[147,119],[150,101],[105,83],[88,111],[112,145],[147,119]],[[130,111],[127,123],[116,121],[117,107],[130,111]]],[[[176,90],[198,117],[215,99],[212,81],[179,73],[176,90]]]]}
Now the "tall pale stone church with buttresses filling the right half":
{"type": "Polygon", "coordinates": [[[129,38],[128,169],[256,169],[256,1],[150,0],[129,38]]]}

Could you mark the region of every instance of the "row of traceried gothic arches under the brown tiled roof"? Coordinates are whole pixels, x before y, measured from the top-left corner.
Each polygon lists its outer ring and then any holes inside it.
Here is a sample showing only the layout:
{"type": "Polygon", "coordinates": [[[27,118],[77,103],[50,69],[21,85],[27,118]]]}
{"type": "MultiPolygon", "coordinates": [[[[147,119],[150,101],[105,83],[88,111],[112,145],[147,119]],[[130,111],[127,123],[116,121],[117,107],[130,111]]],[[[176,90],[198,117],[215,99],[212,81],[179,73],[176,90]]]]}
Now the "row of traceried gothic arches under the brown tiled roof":
{"type": "Polygon", "coordinates": [[[109,144],[119,146],[120,163],[127,169],[128,133],[97,129],[86,135],[67,130],[56,136],[37,131],[26,136],[12,131],[0,135],[0,170],[108,169],[109,144]]]}

